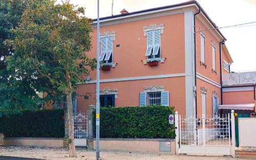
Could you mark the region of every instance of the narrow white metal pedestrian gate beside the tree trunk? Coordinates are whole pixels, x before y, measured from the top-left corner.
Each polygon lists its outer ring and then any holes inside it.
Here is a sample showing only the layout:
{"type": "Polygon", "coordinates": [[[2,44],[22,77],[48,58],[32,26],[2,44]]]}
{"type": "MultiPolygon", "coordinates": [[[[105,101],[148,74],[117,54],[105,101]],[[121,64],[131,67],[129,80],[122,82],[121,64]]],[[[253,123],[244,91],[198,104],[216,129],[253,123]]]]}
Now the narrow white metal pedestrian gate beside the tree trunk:
{"type": "Polygon", "coordinates": [[[75,146],[86,146],[87,113],[74,113],[74,138],[75,146]]]}

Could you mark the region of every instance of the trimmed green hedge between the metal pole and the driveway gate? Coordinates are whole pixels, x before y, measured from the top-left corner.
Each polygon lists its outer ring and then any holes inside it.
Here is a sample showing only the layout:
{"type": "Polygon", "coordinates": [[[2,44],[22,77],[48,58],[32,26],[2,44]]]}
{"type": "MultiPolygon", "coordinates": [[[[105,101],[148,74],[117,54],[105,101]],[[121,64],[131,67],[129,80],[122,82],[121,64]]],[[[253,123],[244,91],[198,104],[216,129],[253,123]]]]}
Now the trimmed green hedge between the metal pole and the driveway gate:
{"type": "MultiPolygon", "coordinates": [[[[100,108],[100,138],[175,138],[175,126],[168,116],[170,106],[133,106],[100,108]]],[[[94,136],[96,111],[92,113],[94,136]]]]}

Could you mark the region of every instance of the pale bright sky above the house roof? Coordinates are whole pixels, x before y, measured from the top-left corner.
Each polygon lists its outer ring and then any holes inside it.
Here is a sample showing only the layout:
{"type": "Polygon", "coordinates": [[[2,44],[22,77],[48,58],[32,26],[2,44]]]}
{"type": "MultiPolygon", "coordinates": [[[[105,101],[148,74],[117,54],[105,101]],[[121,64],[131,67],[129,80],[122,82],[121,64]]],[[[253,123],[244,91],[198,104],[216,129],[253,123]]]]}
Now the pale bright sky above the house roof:
{"type": "MultiPolygon", "coordinates": [[[[186,2],[186,0],[114,0],[113,14],[122,9],[134,12],[186,2]]],[[[198,0],[209,17],[219,26],[256,21],[256,0],[198,0]]],[[[97,0],[71,0],[86,8],[86,16],[97,17],[97,0]]],[[[112,0],[100,0],[100,17],[111,16],[112,0]]],[[[250,26],[221,29],[234,61],[231,71],[256,70],[256,23],[250,26]]]]}

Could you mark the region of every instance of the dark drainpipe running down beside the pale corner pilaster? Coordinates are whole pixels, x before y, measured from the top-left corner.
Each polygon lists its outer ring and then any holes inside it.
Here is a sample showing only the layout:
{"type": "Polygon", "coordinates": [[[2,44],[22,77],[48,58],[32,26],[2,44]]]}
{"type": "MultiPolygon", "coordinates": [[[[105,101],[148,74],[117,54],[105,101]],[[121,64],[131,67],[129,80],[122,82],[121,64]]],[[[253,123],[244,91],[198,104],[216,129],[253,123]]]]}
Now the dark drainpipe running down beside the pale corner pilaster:
{"type": "MultiPolygon", "coordinates": [[[[197,86],[197,57],[196,57],[196,16],[201,13],[201,8],[199,7],[199,11],[194,14],[194,65],[195,65],[195,87],[197,86]]],[[[196,116],[197,116],[197,89],[195,90],[196,96],[196,116]]]]}

